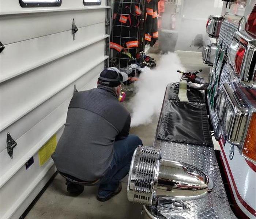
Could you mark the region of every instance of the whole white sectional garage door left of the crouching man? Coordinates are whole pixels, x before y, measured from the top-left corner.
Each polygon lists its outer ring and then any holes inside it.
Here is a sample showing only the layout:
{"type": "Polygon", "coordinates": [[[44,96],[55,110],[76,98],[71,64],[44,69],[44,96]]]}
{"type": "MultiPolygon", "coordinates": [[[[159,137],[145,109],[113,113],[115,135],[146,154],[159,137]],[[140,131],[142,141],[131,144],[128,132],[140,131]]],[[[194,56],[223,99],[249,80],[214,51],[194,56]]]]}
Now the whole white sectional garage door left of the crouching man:
{"type": "Polygon", "coordinates": [[[49,155],[63,131],[74,85],[79,91],[95,87],[108,63],[107,5],[0,0],[1,219],[19,218],[56,170],[49,155]],[[7,132],[17,143],[12,158],[7,132]]]}

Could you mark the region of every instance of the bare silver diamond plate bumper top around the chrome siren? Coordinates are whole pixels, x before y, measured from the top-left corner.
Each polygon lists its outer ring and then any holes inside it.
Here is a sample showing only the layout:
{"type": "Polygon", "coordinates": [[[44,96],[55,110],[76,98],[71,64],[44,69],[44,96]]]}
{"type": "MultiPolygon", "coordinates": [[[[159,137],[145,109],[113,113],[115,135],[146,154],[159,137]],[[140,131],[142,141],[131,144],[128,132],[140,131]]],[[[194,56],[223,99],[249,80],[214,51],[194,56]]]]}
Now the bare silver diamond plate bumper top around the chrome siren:
{"type": "Polygon", "coordinates": [[[225,188],[219,172],[215,152],[212,147],[159,141],[162,158],[185,162],[202,169],[214,181],[214,190],[203,199],[185,201],[189,211],[163,213],[167,219],[227,219],[236,218],[227,200],[225,188]]]}

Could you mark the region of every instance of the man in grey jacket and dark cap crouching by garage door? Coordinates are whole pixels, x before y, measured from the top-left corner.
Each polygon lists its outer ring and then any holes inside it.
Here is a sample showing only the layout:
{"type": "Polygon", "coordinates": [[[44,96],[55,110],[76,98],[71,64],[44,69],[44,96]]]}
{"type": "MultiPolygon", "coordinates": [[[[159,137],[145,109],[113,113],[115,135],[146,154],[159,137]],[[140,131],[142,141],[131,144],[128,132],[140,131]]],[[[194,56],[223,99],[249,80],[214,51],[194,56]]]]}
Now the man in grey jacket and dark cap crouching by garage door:
{"type": "Polygon", "coordinates": [[[99,184],[97,199],[109,200],[122,189],[133,151],[142,141],[129,135],[131,116],[118,101],[127,74],[116,68],[101,72],[97,88],[76,93],[52,158],[67,179],[67,190],[79,195],[84,185],[99,184]]]}

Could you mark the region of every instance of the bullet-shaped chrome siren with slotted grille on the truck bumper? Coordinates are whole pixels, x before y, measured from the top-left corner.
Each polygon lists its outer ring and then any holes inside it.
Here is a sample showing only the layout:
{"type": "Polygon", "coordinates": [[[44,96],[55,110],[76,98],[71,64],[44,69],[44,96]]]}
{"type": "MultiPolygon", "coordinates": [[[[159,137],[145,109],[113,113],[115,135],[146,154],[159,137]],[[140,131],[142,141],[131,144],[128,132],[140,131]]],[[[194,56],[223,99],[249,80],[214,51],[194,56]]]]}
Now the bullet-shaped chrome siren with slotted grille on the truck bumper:
{"type": "Polygon", "coordinates": [[[195,166],[162,159],[160,149],[139,146],[133,153],[127,196],[133,203],[152,205],[156,198],[193,200],[213,189],[207,174],[195,166]]]}

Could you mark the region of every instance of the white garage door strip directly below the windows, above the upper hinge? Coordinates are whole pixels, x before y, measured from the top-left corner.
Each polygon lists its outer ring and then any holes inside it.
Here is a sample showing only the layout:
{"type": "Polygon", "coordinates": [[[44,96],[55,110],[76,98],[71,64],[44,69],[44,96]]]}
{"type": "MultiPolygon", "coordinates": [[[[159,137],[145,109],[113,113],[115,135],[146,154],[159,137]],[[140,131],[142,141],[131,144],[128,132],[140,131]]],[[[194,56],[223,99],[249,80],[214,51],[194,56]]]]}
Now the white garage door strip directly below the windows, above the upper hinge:
{"type": "Polygon", "coordinates": [[[4,15],[0,19],[0,39],[7,45],[67,30],[71,32],[73,18],[78,28],[102,23],[105,9],[4,15]]]}

